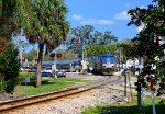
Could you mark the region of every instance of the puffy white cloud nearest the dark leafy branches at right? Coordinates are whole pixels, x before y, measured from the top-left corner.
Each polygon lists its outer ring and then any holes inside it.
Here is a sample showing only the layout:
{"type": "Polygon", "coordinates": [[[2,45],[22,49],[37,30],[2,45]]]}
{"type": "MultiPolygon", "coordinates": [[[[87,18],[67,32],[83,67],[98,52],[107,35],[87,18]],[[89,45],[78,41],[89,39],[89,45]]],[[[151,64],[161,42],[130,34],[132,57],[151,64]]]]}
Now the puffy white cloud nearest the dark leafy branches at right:
{"type": "Polygon", "coordinates": [[[128,14],[128,11],[122,11],[114,15],[114,19],[117,20],[130,20],[130,15],[128,14]]]}

